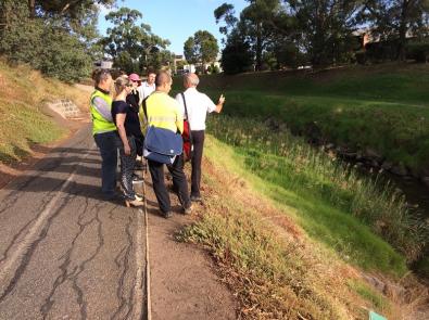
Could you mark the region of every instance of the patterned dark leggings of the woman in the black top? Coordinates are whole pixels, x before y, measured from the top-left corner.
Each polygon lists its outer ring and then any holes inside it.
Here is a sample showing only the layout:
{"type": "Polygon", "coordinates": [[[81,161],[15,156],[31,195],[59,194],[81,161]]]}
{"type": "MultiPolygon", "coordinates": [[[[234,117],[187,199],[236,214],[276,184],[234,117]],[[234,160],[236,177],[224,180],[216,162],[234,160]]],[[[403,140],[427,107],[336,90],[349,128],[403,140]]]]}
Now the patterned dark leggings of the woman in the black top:
{"type": "Polygon", "coordinates": [[[131,149],[131,154],[126,155],[124,152],[124,143],[121,140],[119,135],[116,136],[117,146],[119,149],[119,157],[121,157],[121,185],[124,191],[125,197],[129,200],[136,200],[136,192],[133,188],[133,174],[134,167],[136,165],[136,140],[134,137],[127,137],[128,144],[131,149]]]}

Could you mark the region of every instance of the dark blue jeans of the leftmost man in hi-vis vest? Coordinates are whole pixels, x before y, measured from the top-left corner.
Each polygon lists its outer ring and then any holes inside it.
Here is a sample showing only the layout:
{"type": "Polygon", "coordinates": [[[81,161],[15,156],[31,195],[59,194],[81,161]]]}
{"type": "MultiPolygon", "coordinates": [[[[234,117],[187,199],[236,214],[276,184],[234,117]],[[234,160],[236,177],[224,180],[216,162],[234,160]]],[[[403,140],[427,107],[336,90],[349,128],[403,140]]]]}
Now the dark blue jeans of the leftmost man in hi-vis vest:
{"type": "Polygon", "coordinates": [[[116,131],[93,136],[101,154],[101,191],[105,197],[112,197],[116,190],[117,145],[116,131]]]}

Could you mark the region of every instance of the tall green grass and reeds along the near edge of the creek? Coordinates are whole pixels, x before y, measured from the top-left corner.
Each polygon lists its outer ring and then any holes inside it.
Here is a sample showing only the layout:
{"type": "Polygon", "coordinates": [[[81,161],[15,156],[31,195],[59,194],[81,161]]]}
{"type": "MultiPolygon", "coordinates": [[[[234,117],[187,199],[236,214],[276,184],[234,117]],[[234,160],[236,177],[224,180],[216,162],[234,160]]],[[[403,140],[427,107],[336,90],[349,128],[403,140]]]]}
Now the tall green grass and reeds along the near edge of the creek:
{"type": "MultiPolygon", "coordinates": [[[[333,154],[312,148],[286,129],[273,130],[254,119],[216,117],[210,120],[209,131],[244,155],[247,169],[260,178],[310,202],[323,203],[325,212],[356,217],[408,263],[420,256],[429,239],[428,227],[412,215],[404,196],[389,183],[359,177],[333,154]]],[[[320,212],[314,212],[314,217],[320,212]]],[[[317,221],[330,223],[329,218],[317,221]]]]}

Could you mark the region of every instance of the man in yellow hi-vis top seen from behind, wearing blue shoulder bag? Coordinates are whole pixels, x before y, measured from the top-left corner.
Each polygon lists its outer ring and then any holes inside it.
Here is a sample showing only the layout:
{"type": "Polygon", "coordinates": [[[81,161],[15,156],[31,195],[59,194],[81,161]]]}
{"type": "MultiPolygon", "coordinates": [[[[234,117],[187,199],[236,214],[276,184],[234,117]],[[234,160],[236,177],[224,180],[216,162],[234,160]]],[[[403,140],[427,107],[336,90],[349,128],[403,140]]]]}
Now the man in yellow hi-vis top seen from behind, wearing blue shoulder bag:
{"type": "MultiPolygon", "coordinates": [[[[179,104],[168,95],[172,89],[173,79],[166,72],[156,74],[156,90],[146,100],[146,112],[148,126],[163,128],[173,132],[184,131],[184,116],[179,104]]],[[[165,218],[172,216],[172,208],[167,189],[164,183],[164,164],[148,159],[149,170],[152,177],[153,191],[155,192],[157,204],[165,218]]],[[[177,155],[172,165],[167,165],[173,176],[174,185],[177,187],[177,194],[185,214],[191,213],[191,202],[189,200],[188,182],[184,172],[184,154],[177,155]]]]}

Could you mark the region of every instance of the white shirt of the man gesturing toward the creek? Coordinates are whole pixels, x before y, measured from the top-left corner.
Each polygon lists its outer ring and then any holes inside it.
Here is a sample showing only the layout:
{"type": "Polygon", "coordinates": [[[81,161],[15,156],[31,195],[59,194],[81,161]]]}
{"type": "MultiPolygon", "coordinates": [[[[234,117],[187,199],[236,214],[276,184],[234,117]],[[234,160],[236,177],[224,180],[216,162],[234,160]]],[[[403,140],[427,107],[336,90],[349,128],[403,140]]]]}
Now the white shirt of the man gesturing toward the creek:
{"type": "MultiPolygon", "coordinates": [[[[205,130],[207,113],[214,112],[216,104],[206,94],[199,92],[197,88],[188,88],[184,93],[191,130],[205,130]]],[[[180,104],[184,118],[186,118],[185,104],[180,93],[176,95],[176,100],[180,104]]]]}

